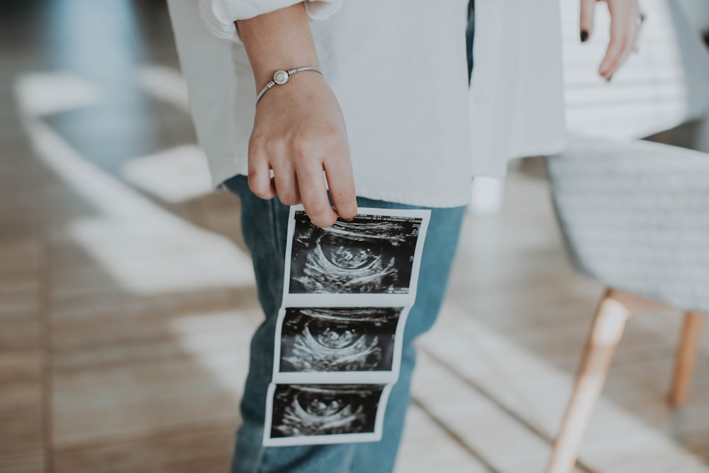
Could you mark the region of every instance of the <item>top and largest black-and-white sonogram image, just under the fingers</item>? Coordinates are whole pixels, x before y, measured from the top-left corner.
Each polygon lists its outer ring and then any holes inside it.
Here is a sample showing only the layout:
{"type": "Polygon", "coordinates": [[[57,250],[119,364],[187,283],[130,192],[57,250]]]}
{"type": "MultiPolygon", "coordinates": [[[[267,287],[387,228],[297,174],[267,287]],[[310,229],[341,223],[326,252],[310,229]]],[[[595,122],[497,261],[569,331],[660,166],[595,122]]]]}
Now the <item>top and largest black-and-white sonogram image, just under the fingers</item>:
{"type": "Polygon", "coordinates": [[[319,228],[295,212],[292,294],[408,294],[422,219],[362,215],[319,228]]]}

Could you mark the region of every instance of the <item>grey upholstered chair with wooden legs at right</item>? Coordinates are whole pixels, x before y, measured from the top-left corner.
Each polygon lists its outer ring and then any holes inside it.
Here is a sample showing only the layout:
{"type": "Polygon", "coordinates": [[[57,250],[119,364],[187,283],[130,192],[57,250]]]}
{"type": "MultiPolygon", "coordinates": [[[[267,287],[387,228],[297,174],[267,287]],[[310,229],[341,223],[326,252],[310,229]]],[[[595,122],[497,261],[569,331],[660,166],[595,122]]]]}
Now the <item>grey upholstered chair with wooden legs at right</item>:
{"type": "Polygon", "coordinates": [[[709,154],[574,137],[547,169],[574,266],[607,287],[547,469],[567,473],[632,313],[658,305],[684,313],[668,399],[686,399],[700,314],[709,315],[709,154]]]}

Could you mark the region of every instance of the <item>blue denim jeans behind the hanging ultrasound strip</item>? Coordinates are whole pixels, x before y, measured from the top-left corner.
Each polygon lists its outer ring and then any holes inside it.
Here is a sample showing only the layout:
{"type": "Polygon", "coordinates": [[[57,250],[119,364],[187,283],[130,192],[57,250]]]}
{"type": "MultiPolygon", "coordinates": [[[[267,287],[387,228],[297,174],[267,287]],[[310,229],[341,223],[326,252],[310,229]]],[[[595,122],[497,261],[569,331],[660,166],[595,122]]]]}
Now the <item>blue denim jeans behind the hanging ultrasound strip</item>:
{"type": "MultiPolygon", "coordinates": [[[[389,473],[393,470],[409,401],[415,352],[411,342],[433,325],[440,309],[464,207],[432,208],[421,257],[415,303],[404,330],[401,371],[386,406],[382,439],[373,443],[263,447],[267,389],[272,378],[274,333],[281,306],[289,207],[278,198],[264,201],[251,193],[247,179],[225,182],[242,204],[242,231],[251,252],[258,295],[266,320],[251,340],[249,374],[241,403],[233,473],[389,473]]],[[[357,198],[360,207],[420,208],[357,198]]]]}

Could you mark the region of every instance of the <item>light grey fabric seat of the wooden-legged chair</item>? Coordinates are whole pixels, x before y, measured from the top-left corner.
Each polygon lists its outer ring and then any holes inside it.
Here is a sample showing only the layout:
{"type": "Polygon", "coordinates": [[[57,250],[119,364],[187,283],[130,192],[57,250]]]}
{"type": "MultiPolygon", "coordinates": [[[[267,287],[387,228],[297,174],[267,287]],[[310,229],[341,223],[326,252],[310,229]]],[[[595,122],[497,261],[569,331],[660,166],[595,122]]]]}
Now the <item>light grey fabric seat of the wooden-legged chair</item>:
{"type": "Polygon", "coordinates": [[[709,155],[574,137],[547,158],[571,258],[607,286],[709,314],[709,155]]]}

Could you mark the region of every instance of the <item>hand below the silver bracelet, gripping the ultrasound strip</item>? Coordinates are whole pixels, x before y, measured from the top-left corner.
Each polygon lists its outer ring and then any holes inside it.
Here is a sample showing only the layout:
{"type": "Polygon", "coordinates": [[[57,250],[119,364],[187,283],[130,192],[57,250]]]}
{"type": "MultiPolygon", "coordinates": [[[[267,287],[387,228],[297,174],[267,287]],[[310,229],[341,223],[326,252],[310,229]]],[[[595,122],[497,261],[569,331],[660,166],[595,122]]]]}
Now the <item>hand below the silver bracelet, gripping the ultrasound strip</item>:
{"type": "Polygon", "coordinates": [[[345,120],[318,72],[298,72],[264,94],[249,142],[249,187],[262,199],[278,195],[283,204],[302,203],[319,227],[333,225],[338,215],[357,215],[345,120]]]}

